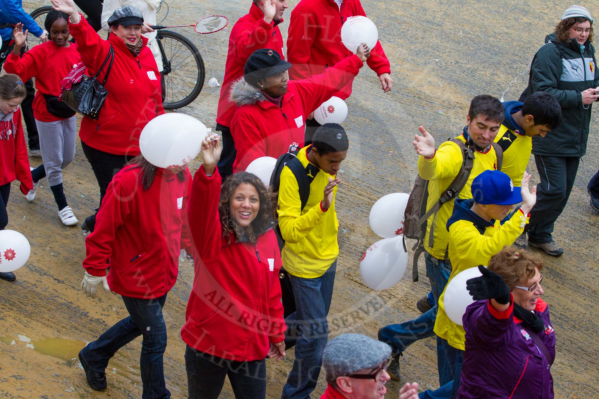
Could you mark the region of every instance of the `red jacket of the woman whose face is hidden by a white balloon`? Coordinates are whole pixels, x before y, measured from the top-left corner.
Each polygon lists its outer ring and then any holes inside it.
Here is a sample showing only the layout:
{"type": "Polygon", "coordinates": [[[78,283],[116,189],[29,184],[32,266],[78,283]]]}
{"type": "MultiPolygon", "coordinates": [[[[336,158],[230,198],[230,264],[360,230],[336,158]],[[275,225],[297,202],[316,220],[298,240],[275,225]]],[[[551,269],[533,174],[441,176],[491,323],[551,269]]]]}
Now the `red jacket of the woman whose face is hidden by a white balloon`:
{"type": "Polygon", "coordinates": [[[191,173],[185,180],[158,168],[150,188],[141,185],[141,169],[126,166],[108,185],[93,233],[85,240],[83,267],[105,276],[117,294],[153,299],[177,281],[179,254],[190,248],[186,209],[191,173]],[[110,259],[110,264],[107,263],[110,259]]]}

